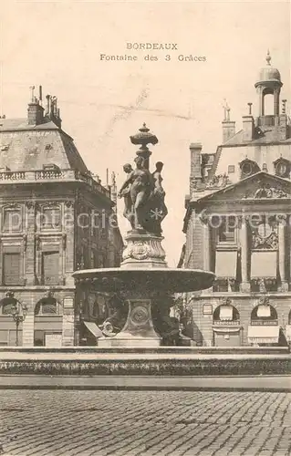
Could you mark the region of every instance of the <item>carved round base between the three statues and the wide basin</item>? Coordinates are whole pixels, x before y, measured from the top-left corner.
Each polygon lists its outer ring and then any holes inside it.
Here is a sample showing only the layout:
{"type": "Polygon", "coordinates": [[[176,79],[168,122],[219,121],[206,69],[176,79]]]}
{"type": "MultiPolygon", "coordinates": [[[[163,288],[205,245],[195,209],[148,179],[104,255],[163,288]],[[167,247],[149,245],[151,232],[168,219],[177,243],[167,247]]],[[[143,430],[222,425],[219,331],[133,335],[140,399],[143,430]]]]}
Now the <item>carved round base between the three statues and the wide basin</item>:
{"type": "Polygon", "coordinates": [[[163,237],[151,233],[132,231],[125,238],[127,246],[120,265],[124,268],[167,267],[165,251],[161,246],[163,237]]]}

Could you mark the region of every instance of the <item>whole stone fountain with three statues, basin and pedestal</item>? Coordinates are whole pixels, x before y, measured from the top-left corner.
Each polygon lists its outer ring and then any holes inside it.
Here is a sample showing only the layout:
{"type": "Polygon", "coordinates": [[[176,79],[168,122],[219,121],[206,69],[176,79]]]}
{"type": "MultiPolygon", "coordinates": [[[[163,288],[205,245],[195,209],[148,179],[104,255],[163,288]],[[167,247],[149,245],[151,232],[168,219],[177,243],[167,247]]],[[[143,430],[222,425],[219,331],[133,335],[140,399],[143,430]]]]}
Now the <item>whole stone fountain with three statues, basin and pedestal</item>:
{"type": "MultiPolygon", "coordinates": [[[[130,163],[123,166],[127,178],[119,197],[124,199],[123,215],[130,222],[131,230],[125,238],[127,245],[120,268],[80,270],[73,276],[81,288],[118,293],[125,303],[114,316],[115,320],[123,321],[124,326],[114,336],[104,330],[107,336],[99,338],[99,347],[154,348],[160,347],[165,335],[179,333],[179,325],[177,328],[170,317],[173,304],[170,295],[209,288],[214,275],[167,266],[161,246],[161,222],[168,213],[162,188],[163,163],[158,161],[155,171],[151,172],[148,148],[148,144],[154,145],[158,139],[143,124],[130,140],[140,145],[140,149],[134,159],[135,168],[130,163]]],[[[110,317],[106,323],[110,326],[110,317]]]]}

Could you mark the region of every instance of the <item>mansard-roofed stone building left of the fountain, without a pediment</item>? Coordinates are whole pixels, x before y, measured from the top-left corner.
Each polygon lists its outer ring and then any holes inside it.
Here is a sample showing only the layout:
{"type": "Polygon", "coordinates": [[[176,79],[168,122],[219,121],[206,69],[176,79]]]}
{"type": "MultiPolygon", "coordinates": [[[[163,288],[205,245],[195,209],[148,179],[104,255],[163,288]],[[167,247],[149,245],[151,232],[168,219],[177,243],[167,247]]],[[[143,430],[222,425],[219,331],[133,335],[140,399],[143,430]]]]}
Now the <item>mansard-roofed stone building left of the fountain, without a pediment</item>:
{"type": "Polygon", "coordinates": [[[1,346],[72,346],[90,324],[94,333],[99,295],[89,311],[72,273],[118,266],[123,247],[115,182],[93,177],[61,128],[57,98],[46,108],[41,98],[32,93],[26,119],[0,119],[1,346]]]}

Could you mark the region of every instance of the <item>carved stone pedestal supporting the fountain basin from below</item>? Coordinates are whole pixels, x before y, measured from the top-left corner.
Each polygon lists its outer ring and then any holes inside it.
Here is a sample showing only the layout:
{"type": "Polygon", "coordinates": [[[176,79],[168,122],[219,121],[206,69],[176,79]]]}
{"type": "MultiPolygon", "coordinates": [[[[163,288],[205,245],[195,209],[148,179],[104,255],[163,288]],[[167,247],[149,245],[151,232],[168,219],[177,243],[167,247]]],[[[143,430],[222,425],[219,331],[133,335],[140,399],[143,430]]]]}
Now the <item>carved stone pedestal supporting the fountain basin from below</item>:
{"type": "Polygon", "coordinates": [[[151,299],[129,299],[125,326],[115,337],[100,337],[99,347],[160,347],[151,319],[151,299]]]}

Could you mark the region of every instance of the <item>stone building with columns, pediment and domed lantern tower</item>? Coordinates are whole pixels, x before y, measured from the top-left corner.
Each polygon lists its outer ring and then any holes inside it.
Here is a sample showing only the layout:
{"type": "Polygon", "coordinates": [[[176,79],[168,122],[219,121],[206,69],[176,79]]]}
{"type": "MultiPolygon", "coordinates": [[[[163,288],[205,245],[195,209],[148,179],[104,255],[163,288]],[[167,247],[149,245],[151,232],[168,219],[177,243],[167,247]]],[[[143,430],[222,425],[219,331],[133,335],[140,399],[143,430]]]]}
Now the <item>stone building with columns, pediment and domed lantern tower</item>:
{"type": "Polygon", "coordinates": [[[216,152],[190,146],[179,266],[216,275],[211,289],[185,296],[188,334],[201,346],[284,346],[291,337],[291,127],[270,60],[255,82],[257,116],[248,103],[236,131],[226,105],[216,152]]]}

